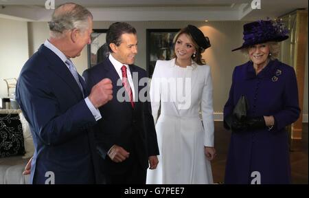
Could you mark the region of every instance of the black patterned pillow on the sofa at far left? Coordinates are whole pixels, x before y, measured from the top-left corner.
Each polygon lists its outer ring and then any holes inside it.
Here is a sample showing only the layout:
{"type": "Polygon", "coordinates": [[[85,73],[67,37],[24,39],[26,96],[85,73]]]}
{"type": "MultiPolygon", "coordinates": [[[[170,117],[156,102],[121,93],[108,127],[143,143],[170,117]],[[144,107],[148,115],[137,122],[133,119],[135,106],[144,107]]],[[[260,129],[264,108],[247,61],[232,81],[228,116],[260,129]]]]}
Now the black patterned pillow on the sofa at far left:
{"type": "Polygon", "coordinates": [[[0,113],[0,157],[25,154],[19,114],[0,113]]]}

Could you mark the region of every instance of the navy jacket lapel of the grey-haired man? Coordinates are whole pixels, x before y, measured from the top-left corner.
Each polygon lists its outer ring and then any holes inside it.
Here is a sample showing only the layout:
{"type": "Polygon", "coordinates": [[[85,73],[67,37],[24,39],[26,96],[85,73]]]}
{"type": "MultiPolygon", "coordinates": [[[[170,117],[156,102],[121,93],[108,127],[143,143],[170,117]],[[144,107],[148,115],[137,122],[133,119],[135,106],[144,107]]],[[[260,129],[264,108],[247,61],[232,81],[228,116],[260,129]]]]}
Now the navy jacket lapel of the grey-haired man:
{"type": "Polygon", "coordinates": [[[67,68],[67,65],[65,65],[65,63],[63,63],[61,59],[54,52],[52,52],[52,50],[45,47],[45,45],[41,45],[38,52],[45,56],[47,61],[50,63],[49,68],[52,69],[60,78],[62,78],[62,80],[65,81],[69,87],[71,87],[74,94],[76,94],[76,97],[82,98],[82,91],[67,68]]]}

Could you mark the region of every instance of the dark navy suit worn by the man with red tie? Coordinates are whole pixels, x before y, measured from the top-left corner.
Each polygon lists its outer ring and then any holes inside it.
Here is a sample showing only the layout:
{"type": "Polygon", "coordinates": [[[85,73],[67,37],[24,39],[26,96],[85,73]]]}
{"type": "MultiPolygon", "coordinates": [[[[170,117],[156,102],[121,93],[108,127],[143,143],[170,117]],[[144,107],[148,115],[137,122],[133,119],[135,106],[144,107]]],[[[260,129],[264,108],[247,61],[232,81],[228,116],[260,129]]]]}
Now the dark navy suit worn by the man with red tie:
{"type": "MultiPolygon", "coordinates": [[[[138,74],[139,80],[147,77],[144,69],[136,65],[129,65],[129,67],[132,76],[133,73],[138,74]]],[[[83,76],[89,90],[103,78],[110,78],[113,83],[113,100],[99,108],[100,113],[104,115],[104,119],[99,120],[95,126],[95,140],[98,152],[102,157],[100,163],[102,173],[104,175],[122,175],[138,166],[139,168],[137,169],[145,173],[146,179],[148,157],[159,155],[155,123],[152,118],[150,103],[138,100],[133,108],[130,102],[120,102],[117,100],[117,91],[123,89],[123,87],[122,85],[117,86],[119,75],[108,58],[102,63],[87,69],[83,76]],[[124,162],[113,162],[107,153],[114,144],[122,146],[130,153],[130,157],[124,160],[124,162]]],[[[141,90],[147,89],[147,86],[137,86],[134,80],[133,83],[135,84],[136,100],[138,98],[137,94],[141,90]]],[[[135,183],[134,178],[131,179],[133,179],[131,182],[135,183]]]]}

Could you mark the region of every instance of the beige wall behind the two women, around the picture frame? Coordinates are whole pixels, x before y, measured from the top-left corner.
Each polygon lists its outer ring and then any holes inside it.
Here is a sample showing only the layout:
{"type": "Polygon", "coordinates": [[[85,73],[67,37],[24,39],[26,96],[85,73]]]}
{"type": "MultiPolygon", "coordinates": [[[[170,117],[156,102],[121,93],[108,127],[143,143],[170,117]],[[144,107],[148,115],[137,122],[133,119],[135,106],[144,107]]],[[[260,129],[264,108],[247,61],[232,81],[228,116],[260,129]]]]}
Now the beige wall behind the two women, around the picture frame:
{"type": "MultiPolygon", "coordinates": [[[[214,83],[214,111],[222,112],[231,86],[233,68],[247,61],[240,52],[231,52],[242,44],[241,21],[196,22],[196,21],[150,21],[128,22],[137,30],[139,54],[135,62],[146,69],[146,29],[183,28],[187,24],[196,25],[209,37],[211,47],[203,54],[203,58],[211,66],[214,83]],[[231,31],[232,30],[232,31],[231,31]],[[231,39],[233,38],[233,39],[231,39]]],[[[95,22],[94,29],[107,29],[111,23],[95,22]]]]}

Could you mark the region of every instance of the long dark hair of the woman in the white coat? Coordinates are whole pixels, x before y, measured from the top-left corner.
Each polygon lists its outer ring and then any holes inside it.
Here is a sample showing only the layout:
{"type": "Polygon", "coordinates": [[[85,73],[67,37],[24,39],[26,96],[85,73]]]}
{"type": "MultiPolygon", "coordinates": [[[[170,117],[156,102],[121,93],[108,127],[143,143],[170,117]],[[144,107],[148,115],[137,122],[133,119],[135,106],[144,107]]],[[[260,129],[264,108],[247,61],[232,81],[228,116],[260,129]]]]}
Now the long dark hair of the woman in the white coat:
{"type": "Polygon", "coordinates": [[[174,58],[177,58],[176,56],[176,52],[175,52],[175,43],[177,41],[177,39],[179,38],[179,36],[181,34],[186,34],[187,36],[189,36],[190,40],[192,41],[194,47],[195,47],[195,50],[196,50],[196,54],[195,54],[195,57],[191,56],[192,60],[198,64],[198,65],[205,65],[205,60],[202,58],[202,53],[205,52],[205,50],[201,47],[198,47],[198,44],[194,41],[194,39],[192,38],[191,34],[190,34],[190,31],[189,29],[186,27],[186,28],[183,28],[181,29],[177,34],[176,36],[174,37],[174,40],[173,40],[173,43],[174,43],[174,54],[173,54],[173,57],[174,58]]]}

